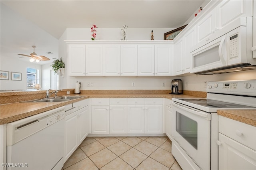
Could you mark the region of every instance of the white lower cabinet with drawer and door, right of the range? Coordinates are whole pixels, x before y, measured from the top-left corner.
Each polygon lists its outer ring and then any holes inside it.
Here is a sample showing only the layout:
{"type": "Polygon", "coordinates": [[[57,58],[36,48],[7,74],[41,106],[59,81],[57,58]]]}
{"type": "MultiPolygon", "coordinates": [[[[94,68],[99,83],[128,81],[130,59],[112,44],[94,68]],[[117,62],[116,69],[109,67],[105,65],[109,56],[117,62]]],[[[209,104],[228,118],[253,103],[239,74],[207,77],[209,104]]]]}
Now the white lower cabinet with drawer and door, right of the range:
{"type": "Polygon", "coordinates": [[[219,169],[256,169],[256,127],[219,116],[219,169]]]}

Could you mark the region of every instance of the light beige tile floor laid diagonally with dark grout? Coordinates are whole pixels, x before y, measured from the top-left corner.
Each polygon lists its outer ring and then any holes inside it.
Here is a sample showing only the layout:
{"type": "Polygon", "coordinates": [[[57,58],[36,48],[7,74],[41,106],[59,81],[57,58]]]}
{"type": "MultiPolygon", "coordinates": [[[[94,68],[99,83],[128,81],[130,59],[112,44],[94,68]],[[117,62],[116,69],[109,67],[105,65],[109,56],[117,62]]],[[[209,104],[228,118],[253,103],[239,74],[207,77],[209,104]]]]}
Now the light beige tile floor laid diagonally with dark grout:
{"type": "Polygon", "coordinates": [[[182,170],[161,137],[87,137],[64,170],[182,170]]]}

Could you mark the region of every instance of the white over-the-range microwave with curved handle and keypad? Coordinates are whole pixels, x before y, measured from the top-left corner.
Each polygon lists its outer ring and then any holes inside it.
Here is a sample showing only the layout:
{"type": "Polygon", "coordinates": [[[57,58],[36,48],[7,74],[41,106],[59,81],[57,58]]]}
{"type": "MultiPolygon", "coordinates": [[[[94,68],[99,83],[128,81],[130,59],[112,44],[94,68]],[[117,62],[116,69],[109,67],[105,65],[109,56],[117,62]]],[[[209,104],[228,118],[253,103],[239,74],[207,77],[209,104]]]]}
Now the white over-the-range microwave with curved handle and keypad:
{"type": "Polygon", "coordinates": [[[230,32],[194,49],[190,73],[220,74],[256,69],[256,58],[253,58],[251,50],[252,24],[248,23],[248,18],[246,26],[235,27],[230,32]]]}

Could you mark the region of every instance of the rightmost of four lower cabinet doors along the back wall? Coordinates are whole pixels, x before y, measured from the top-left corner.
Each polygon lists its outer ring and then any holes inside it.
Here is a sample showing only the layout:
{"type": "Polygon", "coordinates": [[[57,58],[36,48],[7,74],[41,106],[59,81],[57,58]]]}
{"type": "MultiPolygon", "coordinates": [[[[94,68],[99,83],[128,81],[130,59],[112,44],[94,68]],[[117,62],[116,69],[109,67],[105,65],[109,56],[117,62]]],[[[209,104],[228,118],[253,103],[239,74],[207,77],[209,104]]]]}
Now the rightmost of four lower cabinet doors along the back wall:
{"type": "Polygon", "coordinates": [[[145,106],[145,133],[162,134],[163,133],[163,106],[146,105],[145,106]]]}

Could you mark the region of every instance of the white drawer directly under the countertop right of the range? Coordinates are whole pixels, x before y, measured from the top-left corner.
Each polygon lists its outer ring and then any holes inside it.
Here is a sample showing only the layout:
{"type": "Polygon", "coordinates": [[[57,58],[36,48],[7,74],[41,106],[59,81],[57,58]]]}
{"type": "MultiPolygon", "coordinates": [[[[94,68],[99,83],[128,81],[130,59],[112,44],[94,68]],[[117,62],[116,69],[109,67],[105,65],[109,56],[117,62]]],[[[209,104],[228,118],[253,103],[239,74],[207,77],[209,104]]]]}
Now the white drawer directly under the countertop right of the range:
{"type": "Polygon", "coordinates": [[[219,116],[219,132],[256,150],[256,127],[219,116]]]}

